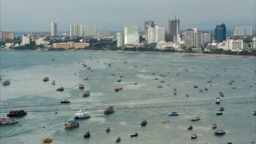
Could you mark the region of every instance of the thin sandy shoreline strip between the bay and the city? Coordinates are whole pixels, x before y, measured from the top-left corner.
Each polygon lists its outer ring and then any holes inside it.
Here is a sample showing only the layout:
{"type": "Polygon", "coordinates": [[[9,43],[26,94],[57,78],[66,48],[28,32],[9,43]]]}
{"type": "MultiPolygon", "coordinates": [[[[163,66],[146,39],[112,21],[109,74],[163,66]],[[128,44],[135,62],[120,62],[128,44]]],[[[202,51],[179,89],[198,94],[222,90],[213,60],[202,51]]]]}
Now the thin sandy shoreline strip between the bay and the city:
{"type": "MultiPolygon", "coordinates": [[[[0,50],[0,51],[42,51],[36,50],[0,50]]],[[[240,56],[240,55],[226,55],[226,54],[207,54],[207,53],[171,53],[171,52],[155,52],[155,51],[103,51],[103,50],[53,50],[53,51],[100,51],[100,52],[122,52],[122,53],[167,53],[167,54],[182,54],[182,55],[192,55],[192,56],[222,56],[222,57],[240,57],[240,58],[252,58],[256,59],[256,56],[240,56]]]]}

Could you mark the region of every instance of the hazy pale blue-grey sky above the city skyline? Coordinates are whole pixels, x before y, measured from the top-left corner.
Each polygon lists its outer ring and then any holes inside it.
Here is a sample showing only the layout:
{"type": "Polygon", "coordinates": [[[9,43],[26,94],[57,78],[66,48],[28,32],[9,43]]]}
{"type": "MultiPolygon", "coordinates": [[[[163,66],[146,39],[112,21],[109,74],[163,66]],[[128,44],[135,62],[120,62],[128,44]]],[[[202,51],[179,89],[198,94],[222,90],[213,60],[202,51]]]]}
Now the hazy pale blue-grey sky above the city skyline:
{"type": "MultiPolygon", "coordinates": [[[[168,17],[181,19],[181,29],[214,29],[225,23],[255,28],[256,0],[0,0],[0,29],[12,31],[69,30],[69,24],[95,24],[123,30],[125,24],[144,29],[144,21],[167,29],[168,17]]],[[[84,27],[83,27],[84,29],[84,27]]]]}

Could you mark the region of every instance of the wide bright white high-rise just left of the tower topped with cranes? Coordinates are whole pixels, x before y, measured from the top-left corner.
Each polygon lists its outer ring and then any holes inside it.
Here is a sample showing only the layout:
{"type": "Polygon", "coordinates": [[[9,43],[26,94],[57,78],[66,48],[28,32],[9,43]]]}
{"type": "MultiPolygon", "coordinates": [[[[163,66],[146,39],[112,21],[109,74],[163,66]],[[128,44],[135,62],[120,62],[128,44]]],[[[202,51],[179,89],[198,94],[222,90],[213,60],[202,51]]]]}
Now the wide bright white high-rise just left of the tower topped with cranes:
{"type": "Polygon", "coordinates": [[[147,29],[148,43],[158,43],[165,41],[165,28],[164,27],[148,27],[147,29]]]}

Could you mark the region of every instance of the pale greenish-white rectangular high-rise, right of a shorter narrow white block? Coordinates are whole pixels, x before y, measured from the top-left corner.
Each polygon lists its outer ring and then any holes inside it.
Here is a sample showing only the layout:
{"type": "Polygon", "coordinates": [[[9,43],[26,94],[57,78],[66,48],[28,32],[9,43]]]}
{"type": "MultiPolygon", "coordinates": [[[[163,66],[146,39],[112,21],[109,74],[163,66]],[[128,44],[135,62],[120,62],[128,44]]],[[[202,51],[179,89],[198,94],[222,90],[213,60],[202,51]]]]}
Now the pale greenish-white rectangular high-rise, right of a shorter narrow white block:
{"type": "Polygon", "coordinates": [[[138,25],[125,25],[125,45],[138,45],[139,44],[139,26],[138,25]]]}

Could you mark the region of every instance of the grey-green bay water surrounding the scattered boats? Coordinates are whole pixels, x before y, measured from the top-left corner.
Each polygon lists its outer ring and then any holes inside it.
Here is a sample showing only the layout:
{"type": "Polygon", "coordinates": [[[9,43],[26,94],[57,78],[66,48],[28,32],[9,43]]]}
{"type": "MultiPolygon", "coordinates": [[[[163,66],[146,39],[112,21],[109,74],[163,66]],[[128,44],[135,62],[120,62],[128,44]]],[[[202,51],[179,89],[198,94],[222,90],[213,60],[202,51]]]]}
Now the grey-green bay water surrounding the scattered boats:
{"type": "Polygon", "coordinates": [[[0,125],[0,143],[42,144],[41,139],[52,138],[51,144],[115,144],[120,136],[120,144],[250,144],[256,138],[256,80],[252,79],[252,75],[256,77],[255,69],[255,59],[239,57],[0,51],[0,76],[11,81],[11,85],[0,86],[0,117],[7,117],[12,109],[27,111],[24,117],[12,117],[19,123],[0,125]],[[117,83],[120,75],[122,81],[117,83]],[[84,80],[85,76],[89,79],[84,80]],[[43,77],[50,80],[43,82],[43,77]],[[51,84],[52,80],[56,85],[51,84]],[[162,80],[165,82],[160,83],[162,80]],[[229,85],[231,80],[235,80],[233,85],[229,85]],[[78,88],[80,83],[85,85],[84,90],[78,88]],[[59,87],[64,91],[56,91],[59,87]],[[115,87],[123,90],[115,92],[115,87]],[[173,88],[177,95],[173,95],[173,88]],[[83,91],[90,91],[91,96],[82,97],[83,91]],[[215,104],[219,91],[225,96],[220,97],[221,104],[215,104]],[[71,103],[60,104],[65,99],[71,103]],[[103,109],[108,106],[114,106],[115,112],[104,115],[103,109]],[[219,107],[225,108],[223,115],[216,115],[219,107]],[[91,117],[78,120],[77,128],[65,129],[64,123],[80,109],[91,117]],[[170,112],[180,115],[168,116],[170,112]],[[200,116],[201,120],[190,121],[193,116],[200,116]],[[144,119],[148,124],[141,127],[144,119]],[[227,133],[215,136],[214,122],[217,130],[227,133]],[[188,125],[194,129],[187,131],[188,125]],[[111,128],[109,133],[107,126],[111,128]],[[91,133],[89,139],[83,138],[87,130],[91,133]],[[139,136],[130,138],[135,132],[139,136]],[[190,139],[192,133],[197,134],[197,139],[190,139]]]}

